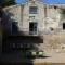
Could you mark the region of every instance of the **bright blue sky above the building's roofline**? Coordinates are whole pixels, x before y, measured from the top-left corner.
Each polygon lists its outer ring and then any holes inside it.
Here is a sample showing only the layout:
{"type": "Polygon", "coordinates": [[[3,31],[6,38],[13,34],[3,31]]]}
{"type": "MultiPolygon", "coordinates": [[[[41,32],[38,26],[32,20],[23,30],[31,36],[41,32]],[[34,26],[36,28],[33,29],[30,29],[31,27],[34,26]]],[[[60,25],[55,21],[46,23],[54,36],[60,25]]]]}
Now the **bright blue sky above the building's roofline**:
{"type": "MultiPolygon", "coordinates": [[[[44,2],[44,3],[65,3],[65,0],[40,0],[41,2],[44,2]]],[[[16,0],[17,3],[23,3],[25,2],[25,0],[16,0]]]]}

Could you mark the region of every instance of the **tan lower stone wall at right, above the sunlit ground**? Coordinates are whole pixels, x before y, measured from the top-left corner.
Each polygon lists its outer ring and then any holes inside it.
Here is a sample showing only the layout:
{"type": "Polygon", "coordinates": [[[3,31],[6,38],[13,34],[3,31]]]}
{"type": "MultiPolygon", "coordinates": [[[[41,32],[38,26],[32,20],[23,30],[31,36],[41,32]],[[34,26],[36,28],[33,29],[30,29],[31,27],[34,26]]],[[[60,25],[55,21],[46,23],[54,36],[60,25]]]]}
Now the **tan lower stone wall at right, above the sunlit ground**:
{"type": "Polygon", "coordinates": [[[43,43],[40,43],[39,48],[47,52],[65,52],[65,35],[63,32],[44,35],[43,43]]]}

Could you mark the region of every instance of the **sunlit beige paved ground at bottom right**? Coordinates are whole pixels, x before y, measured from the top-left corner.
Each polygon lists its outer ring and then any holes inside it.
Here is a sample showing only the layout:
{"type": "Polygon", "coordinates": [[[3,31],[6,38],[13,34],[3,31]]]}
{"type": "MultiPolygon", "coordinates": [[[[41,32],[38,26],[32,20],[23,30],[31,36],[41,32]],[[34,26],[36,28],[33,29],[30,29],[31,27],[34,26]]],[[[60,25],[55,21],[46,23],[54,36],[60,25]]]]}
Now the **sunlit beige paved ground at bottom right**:
{"type": "Polygon", "coordinates": [[[50,57],[46,58],[36,58],[35,63],[65,63],[65,53],[52,53],[50,57]]]}

